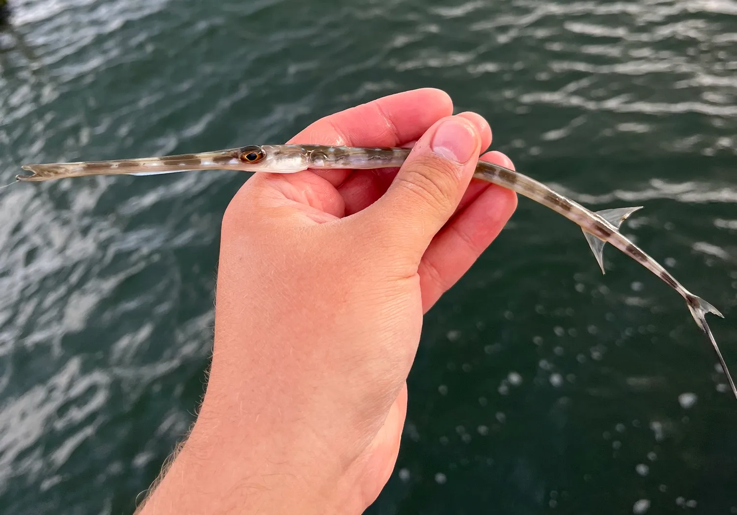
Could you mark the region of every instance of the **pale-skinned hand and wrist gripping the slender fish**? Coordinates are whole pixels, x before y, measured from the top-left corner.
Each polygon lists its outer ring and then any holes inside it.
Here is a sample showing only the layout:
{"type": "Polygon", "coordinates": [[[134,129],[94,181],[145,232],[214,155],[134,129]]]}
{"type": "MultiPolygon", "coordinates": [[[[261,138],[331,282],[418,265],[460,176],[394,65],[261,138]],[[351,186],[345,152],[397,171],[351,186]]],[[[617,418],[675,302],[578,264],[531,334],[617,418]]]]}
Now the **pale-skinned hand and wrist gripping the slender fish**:
{"type": "Polygon", "coordinates": [[[517,205],[471,181],[489,124],[452,113],[421,89],[327,116],[290,143],[416,143],[399,172],[256,174],[233,198],[206,394],[141,514],[361,514],[376,499],[422,317],[517,205]]]}

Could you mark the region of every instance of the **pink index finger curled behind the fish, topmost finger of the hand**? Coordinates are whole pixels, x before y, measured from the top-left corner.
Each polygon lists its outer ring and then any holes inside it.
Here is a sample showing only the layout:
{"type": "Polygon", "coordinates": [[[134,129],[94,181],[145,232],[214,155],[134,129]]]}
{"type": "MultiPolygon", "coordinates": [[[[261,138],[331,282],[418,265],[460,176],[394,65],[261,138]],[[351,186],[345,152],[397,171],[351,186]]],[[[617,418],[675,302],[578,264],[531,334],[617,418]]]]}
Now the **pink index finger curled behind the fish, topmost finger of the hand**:
{"type": "MultiPolygon", "coordinates": [[[[453,101],[435,88],[404,91],[319,119],[288,143],[397,147],[415,141],[435,122],[453,114],[453,101]]],[[[349,170],[327,170],[321,176],[338,186],[349,170]]]]}

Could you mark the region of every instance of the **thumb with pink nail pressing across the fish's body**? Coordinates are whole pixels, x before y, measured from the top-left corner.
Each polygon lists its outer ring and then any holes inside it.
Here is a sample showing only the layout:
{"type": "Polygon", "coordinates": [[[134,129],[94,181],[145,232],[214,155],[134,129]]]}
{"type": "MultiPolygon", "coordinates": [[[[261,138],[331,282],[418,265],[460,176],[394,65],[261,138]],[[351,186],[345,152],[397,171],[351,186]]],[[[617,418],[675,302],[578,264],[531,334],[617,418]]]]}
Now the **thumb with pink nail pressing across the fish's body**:
{"type": "Polygon", "coordinates": [[[417,141],[385,195],[361,211],[363,223],[419,263],[471,181],[481,151],[480,132],[463,116],[436,122],[417,141]]]}

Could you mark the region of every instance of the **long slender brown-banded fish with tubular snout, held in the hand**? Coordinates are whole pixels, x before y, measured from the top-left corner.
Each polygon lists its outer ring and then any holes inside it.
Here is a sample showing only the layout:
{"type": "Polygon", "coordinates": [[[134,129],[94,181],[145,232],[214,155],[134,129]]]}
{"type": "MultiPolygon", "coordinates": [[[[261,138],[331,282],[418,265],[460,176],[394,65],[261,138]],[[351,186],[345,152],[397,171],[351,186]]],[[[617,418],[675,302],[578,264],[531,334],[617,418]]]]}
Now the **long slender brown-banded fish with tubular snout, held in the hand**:
{"type": "MultiPolygon", "coordinates": [[[[33,175],[18,175],[18,181],[49,181],[51,179],[84,177],[88,175],[158,175],[204,169],[230,169],[244,172],[294,173],[306,169],[374,169],[400,167],[410,153],[407,148],[393,147],[326,147],[324,145],[248,145],[217,152],[201,154],[170,155],[162,158],[125,159],[120,161],[86,161],[79,163],[27,164],[24,169],[33,175]]],[[[620,209],[590,211],[579,203],[539,183],[520,172],[500,167],[497,164],[479,161],[475,178],[498,184],[524,195],[568,220],[579,225],[601,272],[604,273],[603,251],[611,243],[627,256],[660,277],[681,295],[688,305],[694,320],[707,335],[727,376],[732,392],[737,398],[737,387],[724,362],[722,352],[716,345],[713,334],[706,323],[705,315],[713,313],[722,318],[722,313],[702,298],[685,289],[652,257],[627,239],[619,228],[630,214],[642,206],[620,209]]]]}

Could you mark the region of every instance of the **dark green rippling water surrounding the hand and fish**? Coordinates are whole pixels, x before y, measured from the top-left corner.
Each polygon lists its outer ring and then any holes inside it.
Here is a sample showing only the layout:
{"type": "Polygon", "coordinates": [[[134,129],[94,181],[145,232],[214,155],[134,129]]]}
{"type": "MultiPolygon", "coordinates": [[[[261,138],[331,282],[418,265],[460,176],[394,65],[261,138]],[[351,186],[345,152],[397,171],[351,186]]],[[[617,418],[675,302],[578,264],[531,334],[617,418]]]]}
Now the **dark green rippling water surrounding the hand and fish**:
{"type": "MultiPolygon", "coordinates": [[[[11,0],[0,178],[280,143],[421,86],[626,228],[737,369],[737,1],[11,0]]],[[[237,172],[0,190],[0,513],[129,514],[186,432],[237,172]]],[[[427,315],[370,514],[737,513],[737,405],[674,292],[528,200],[427,315]]]]}

